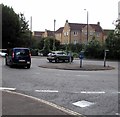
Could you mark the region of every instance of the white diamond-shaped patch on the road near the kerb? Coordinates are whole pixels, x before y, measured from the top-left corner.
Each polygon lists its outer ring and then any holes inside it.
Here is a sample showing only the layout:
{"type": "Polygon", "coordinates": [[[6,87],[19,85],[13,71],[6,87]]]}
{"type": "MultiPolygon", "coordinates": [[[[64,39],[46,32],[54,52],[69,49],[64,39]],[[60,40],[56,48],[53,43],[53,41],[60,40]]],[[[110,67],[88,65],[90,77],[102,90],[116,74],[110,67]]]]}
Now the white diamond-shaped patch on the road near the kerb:
{"type": "Polygon", "coordinates": [[[93,104],[94,104],[93,102],[88,102],[88,101],[85,101],[85,100],[73,103],[73,105],[81,107],[81,108],[88,107],[88,106],[91,106],[93,104]]]}

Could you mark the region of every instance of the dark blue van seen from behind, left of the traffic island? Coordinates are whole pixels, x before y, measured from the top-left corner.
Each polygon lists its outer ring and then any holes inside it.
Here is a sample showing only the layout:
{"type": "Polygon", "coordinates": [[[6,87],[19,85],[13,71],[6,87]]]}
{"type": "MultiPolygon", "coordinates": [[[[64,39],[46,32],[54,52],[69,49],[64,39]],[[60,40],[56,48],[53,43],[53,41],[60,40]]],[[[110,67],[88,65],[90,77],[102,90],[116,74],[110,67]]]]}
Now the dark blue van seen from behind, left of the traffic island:
{"type": "Polygon", "coordinates": [[[30,68],[31,53],[29,48],[12,48],[6,55],[6,65],[24,66],[30,68]]]}

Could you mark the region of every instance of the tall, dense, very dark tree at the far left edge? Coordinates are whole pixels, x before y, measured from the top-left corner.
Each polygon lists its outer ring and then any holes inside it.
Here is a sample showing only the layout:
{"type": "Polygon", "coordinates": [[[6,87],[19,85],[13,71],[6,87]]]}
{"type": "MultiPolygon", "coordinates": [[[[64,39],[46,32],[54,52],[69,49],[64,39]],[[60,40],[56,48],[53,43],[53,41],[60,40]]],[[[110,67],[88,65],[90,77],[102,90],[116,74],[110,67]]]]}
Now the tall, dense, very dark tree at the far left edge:
{"type": "Polygon", "coordinates": [[[13,8],[2,4],[2,48],[16,45],[16,38],[20,36],[19,16],[13,8]]]}

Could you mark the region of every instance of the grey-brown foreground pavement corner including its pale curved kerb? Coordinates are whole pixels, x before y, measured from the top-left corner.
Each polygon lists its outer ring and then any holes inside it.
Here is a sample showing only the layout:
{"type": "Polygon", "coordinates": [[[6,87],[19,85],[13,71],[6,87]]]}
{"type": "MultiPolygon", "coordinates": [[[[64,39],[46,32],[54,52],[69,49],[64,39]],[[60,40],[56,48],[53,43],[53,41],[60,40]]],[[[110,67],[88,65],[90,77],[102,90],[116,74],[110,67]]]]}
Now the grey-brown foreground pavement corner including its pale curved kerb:
{"type": "Polygon", "coordinates": [[[83,117],[81,114],[64,107],[13,91],[2,91],[2,115],[5,117],[6,115],[83,117]]]}

